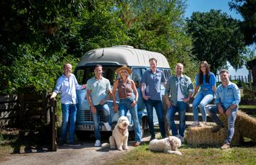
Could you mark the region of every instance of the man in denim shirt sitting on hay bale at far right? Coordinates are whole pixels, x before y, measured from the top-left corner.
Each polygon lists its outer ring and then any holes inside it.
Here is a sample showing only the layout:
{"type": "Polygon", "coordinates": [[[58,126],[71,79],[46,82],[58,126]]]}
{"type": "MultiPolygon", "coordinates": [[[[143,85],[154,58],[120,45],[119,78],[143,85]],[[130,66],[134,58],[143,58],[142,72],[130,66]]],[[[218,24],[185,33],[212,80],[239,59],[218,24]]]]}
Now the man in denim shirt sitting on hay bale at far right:
{"type": "Polygon", "coordinates": [[[229,81],[228,71],[223,69],[220,71],[220,79],[222,84],[220,84],[216,89],[216,106],[208,106],[206,112],[217,124],[213,127],[211,132],[218,132],[223,123],[219,120],[216,114],[225,113],[228,117],[228,137],[225,140],[225,144],[220,149],[230,148],[230,142],[235,132],[235,118],[238,114],[238,104],[240,103],[240,90],[238,86],[229,81]]]}

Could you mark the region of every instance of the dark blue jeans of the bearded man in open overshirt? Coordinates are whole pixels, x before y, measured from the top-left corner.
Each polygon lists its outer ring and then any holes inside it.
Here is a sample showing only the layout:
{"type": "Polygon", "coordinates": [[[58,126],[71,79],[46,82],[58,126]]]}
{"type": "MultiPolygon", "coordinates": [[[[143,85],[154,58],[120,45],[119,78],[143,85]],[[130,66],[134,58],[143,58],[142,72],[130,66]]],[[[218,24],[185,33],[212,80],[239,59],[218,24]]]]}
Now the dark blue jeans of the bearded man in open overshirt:
{"type": "Polygon", "coordinates": [[[171,108],[169,108],[166,112],[166,120],[168,121],[170,127],[171,127],[171,134],[172,136],[181,135],[184,136],[184,131],[186,127],[186,108],[187,104],[183,101],[177,101],[176,106],[171,105],[171,108]],[[178,110],[178,119],[179,119],[179,128],[177,130],[176,124],[174,122],[174,115],[176,111],[178,110]]]}

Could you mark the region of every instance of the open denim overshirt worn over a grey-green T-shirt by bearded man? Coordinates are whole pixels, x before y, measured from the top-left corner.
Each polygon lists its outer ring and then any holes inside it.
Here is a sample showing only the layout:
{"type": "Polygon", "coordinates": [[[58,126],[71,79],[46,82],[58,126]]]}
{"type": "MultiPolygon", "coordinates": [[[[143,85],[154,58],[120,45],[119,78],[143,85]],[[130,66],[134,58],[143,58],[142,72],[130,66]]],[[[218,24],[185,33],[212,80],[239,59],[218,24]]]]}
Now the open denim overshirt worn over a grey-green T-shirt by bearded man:
{"type": "MultiPolygon", "coordinates": [[[[181,93],[185,98],[188,98],[188,94],[193,93],[193,84],[191,79],[188,76],[181,75],[180,81],[178,81],[178,77],[176,75],[171,76],[166,83],[166,90],[164,92],[165,95],[170,94],[171,91],[171,104],[176,106],[177,96],[178,96],[178,83],[181,87],[181,93]]],[[[189,101],[188,101],[189,103],[189,101]]]]}

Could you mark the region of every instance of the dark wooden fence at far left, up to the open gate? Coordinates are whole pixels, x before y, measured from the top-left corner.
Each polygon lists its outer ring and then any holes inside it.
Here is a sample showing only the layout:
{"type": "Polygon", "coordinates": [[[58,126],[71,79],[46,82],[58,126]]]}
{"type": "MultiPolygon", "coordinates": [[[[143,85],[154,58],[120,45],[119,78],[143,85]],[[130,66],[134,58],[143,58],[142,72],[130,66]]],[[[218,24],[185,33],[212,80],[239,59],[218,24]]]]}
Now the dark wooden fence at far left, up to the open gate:
{"type": "Polygon", "coordinates": [[[31,118],[50,123],[48,92],[0,96],[0,126],[23,127],[31,118]]]}

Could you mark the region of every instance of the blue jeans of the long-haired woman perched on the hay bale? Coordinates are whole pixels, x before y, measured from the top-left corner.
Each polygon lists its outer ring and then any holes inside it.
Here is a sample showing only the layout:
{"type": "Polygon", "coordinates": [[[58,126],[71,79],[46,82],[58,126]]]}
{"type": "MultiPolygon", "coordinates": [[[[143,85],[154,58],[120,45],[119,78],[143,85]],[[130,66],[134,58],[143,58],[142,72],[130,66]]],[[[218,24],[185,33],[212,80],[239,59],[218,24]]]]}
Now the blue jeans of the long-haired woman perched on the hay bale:
{"type": "Polygon", "coordinates": [[[206,121],[206,105],[214,98],[212,91],[200,90],[193,101],[192,109],[194,120],[198,121],[198,106],[202,114],[203,121],[206,121]]]}

